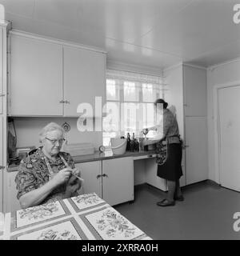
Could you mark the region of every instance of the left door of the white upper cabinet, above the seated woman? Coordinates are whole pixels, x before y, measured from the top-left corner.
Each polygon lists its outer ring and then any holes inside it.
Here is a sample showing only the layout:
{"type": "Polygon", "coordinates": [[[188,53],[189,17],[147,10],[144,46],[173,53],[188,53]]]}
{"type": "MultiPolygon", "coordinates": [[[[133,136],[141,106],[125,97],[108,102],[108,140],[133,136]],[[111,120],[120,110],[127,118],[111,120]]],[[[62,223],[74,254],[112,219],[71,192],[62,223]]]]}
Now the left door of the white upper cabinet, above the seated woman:
{"type": "Polygon", "coordinates": [[[62,115],[62,46],[12,34],[10,114],[62,115]]]}

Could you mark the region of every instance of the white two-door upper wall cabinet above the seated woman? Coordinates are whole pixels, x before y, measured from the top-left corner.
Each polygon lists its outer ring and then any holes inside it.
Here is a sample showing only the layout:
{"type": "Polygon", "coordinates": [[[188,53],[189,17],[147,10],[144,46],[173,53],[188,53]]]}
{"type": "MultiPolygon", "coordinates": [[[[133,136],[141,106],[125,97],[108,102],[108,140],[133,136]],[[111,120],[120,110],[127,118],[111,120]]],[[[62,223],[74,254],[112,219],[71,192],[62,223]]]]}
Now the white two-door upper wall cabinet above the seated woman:
{"type": "Polygon", "coordinates": [[[14,32],[10,45],[10,115],[78,117],[86,102],[95,116],[95,96],[105,103],[105,53],[14,32]]]}

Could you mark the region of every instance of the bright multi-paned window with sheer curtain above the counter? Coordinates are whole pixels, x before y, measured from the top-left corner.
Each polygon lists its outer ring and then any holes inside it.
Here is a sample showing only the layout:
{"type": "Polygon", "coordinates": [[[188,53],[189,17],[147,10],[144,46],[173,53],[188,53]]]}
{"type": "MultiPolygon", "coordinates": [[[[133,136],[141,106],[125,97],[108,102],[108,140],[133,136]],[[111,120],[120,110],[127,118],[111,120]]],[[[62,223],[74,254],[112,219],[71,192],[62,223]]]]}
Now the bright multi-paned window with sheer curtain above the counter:
{"type": "Polygon", "coordinates": [[[138,137],[142,128],[154,126],[154,101],[165,98],[166,93],[161,77],[107,70],[103,145],[109,146],[110,138],[127,133],[138,137]]]}

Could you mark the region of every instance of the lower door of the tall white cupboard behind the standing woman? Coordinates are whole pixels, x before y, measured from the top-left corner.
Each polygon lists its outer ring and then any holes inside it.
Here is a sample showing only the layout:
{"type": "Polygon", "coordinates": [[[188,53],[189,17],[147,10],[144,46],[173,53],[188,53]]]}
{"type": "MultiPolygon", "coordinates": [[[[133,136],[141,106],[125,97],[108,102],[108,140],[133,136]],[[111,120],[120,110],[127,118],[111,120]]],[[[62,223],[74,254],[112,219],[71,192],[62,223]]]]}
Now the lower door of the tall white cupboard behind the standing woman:
{"type": "Polygon", "coordinates": [[[186,185],[208,178],[205,117],[186,117],[186,185]]]}

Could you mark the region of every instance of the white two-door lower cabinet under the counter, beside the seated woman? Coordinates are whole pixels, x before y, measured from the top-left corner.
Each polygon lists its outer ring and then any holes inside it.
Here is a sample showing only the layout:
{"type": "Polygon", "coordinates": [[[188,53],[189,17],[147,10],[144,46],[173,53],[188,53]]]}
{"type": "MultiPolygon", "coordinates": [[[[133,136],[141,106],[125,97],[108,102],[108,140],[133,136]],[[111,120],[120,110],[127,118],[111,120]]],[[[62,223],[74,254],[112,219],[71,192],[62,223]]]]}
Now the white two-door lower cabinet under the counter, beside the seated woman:
{"type": "Polygon", "coordinates": [[[82,194],[98,194],[110,206],[134,200],[133,158],[114,158],[75,164],[84,179],[82,194]]]}

